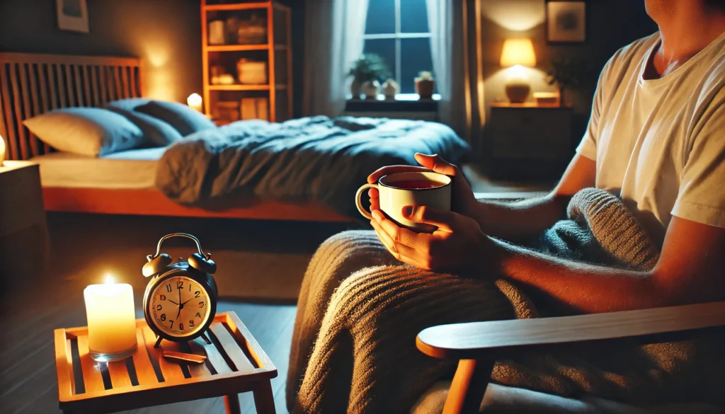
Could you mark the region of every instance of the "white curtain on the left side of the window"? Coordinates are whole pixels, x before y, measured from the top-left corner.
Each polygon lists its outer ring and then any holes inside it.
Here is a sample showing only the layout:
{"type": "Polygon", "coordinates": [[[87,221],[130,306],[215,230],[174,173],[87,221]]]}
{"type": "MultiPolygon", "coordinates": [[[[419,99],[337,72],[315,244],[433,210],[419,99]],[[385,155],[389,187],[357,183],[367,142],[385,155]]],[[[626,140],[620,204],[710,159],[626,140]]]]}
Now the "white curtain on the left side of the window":
{"type": "Polygon", "coordinates": [[[368,0],[310,0],[305,15],[305,115],[340,115],[347,72],[363,53],[368,0]]]}

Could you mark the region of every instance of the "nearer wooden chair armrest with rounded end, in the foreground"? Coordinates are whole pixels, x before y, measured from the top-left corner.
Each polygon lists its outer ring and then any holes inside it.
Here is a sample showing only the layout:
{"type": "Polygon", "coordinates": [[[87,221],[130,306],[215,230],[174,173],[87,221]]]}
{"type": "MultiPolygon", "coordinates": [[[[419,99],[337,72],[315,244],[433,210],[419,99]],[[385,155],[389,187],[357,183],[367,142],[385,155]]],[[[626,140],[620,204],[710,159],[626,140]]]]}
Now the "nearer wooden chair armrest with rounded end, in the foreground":
{"type": "Polygon", "coordinates": [[[431,357],[471,360],[584,341],[628,337],[648,343],[671,341],[687,337],[683,332],[693,334],[721,326],[725,326],[725,302],[711,302],[560,318],[440,325],[423,329],[415,343],[431,357]]]}

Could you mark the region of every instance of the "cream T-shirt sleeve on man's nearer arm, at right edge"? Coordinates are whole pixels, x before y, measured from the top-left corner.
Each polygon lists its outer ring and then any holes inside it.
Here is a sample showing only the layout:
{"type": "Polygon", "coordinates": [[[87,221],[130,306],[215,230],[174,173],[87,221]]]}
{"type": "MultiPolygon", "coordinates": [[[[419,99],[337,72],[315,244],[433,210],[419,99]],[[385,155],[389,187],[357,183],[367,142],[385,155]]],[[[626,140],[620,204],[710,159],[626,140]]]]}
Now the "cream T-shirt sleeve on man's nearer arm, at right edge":
{"type": "Polygon", "coordinates": [[[697,123],[672,215],[725,228],[725,89],[697,123]]]}

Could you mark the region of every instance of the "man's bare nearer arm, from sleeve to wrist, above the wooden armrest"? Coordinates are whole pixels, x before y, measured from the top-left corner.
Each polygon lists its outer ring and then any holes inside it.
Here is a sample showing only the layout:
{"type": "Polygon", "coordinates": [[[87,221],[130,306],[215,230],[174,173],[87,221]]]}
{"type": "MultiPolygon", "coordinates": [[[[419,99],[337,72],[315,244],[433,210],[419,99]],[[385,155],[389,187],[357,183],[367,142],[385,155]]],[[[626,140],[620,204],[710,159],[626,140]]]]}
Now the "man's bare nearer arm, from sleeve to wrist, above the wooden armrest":
{"type": "Polygon", "coordinates": [[[494,262],[502,273],[578,312],[725,299],[725,228],[673,217],[660,260],[648,272],[561,260],[496,243],[494,255],[499,260],[494,262]]]}

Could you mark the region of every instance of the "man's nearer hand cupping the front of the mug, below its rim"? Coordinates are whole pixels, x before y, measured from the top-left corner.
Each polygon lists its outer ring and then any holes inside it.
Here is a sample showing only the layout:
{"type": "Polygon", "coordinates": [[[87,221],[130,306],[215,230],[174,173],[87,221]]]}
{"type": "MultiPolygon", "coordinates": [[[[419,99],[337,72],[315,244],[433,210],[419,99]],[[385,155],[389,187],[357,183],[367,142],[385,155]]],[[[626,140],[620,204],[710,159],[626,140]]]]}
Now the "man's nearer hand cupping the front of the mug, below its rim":
{"type": "Polygon", "coordinates": [[[456,212],[406,206],[403,216],[416,223],[438,226],[431,234],[415,233],[373,210],[370,224],[391,254],[401,262],[425,270],[476,270],[490,264],[486,252],[493,246],[475,220],[456,212]]]}

